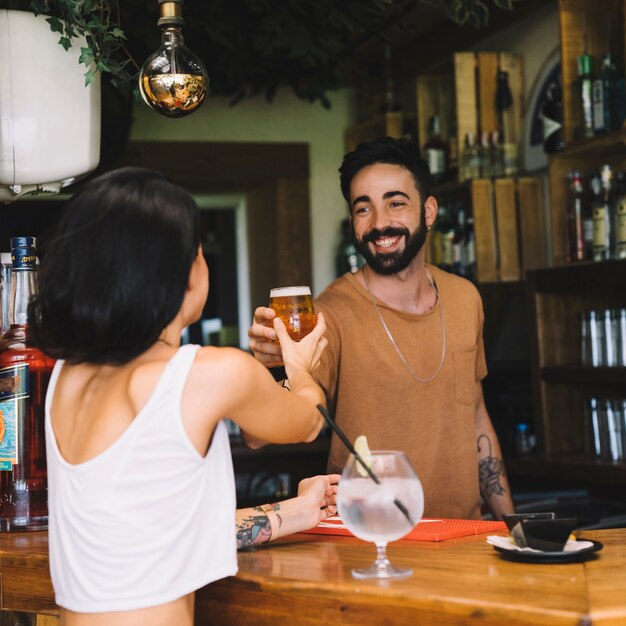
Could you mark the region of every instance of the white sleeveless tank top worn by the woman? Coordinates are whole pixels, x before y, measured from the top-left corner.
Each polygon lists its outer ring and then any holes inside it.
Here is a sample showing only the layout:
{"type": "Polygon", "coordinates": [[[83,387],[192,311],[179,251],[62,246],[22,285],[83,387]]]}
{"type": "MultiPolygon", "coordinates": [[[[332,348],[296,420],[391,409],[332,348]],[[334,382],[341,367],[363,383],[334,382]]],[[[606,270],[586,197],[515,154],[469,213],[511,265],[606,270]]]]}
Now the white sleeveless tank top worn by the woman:
{"type": "Polygon", "coordinates": [[[50,573],[72,611],[165,604],[237,572],[235,480],[223,422],[202,457],[187,436],[183,388],[198,346],[181,347],[150,399],[98,456],[61,456],[46,398],[50,573]]]}

